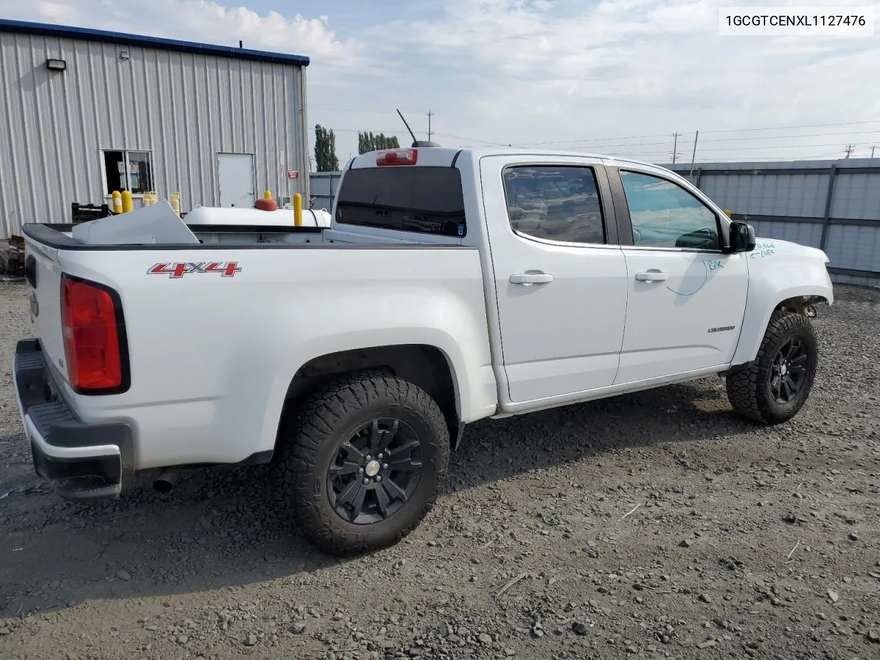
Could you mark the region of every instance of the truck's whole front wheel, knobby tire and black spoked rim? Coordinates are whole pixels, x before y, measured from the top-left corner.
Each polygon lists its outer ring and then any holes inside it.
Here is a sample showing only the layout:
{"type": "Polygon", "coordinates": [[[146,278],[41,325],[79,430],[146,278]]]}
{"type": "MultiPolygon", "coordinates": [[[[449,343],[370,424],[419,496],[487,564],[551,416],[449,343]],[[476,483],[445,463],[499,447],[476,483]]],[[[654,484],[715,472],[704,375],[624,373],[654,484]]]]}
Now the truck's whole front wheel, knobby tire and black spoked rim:
{"type": "Polygon", "coordinates": [[[810,319],[777,310],[755,361],[727,377],[730,405],[753,422],[787,422],[807,400],[817,365],[818,341],[810,319]]]}

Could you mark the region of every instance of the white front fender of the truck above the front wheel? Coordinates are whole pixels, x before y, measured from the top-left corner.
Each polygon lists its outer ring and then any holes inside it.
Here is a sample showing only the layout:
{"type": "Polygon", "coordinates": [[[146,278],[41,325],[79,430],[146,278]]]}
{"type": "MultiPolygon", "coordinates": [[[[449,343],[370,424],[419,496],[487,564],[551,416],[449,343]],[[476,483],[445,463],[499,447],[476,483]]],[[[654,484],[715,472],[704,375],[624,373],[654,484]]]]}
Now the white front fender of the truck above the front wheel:
{"type": "Polygon", "coordinates": [[[749,292],[742,330],[731,364],[752,362],[764,340],[774,310],[793,297],[810,296],[834,302],[828,257],[814,247],[759,238],[749,254],[749,292]]]}

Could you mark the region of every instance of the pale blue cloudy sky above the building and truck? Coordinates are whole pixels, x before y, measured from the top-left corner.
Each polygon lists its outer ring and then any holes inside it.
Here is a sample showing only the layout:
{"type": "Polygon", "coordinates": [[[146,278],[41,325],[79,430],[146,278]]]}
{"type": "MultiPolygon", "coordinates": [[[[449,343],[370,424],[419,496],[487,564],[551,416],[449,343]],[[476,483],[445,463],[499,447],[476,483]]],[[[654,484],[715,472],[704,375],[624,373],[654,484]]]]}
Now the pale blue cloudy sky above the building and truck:
{"type": "MultiPolygon", "coordinates": [[[[880,158],[875,36],[729,37],[722,5],[866,0],[0,0],[0,16],[308,55],[308,114],[444,145],[546,145],[668,162],[880,158]],[[749,129],[749,130],[744,130],[749,129]]],[[[880,20],[878,20],[880,23],[880,20]]],[[[405,140],[406,138],[406,140],[405,140]]]]}

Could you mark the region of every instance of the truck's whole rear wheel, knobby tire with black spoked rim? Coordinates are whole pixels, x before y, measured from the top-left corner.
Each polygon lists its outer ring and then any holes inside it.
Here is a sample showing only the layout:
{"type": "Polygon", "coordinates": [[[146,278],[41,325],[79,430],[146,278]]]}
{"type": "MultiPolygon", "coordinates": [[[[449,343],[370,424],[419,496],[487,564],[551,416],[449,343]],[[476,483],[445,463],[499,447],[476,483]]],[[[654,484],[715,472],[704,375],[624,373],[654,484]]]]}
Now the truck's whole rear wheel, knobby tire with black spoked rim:
{"type": "Polygon", "coordinates": [[[449,430],[419,387],[380,373],[335,380],[279,437],[282,501],[314,546],[335,555],[396,543],[443,487],[449,430]]]}

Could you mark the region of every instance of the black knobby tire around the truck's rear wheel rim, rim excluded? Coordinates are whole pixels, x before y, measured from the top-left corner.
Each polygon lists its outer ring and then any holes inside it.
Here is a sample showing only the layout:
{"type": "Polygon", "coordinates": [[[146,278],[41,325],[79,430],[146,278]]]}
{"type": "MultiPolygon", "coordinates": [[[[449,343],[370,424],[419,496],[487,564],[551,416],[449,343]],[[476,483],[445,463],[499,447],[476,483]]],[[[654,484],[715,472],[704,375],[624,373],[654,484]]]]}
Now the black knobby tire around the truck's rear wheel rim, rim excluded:
{"type": "Polygon", "coordinates": [[[279,428],[277,465],[282,505],[299,532],[327,554],[348,556],[391,546],[422,522],[446,478],[450,439],[444,414],[421,388],[381,371],[334,379],[305,399],[279,428]],[[327,475],[356,429],[378,418],[408,425],[421,443],[414,492],[385,519],[355,524],[334,510],[327,475]]]}

